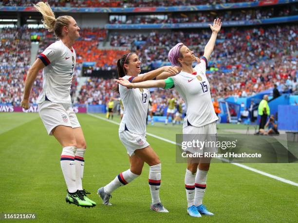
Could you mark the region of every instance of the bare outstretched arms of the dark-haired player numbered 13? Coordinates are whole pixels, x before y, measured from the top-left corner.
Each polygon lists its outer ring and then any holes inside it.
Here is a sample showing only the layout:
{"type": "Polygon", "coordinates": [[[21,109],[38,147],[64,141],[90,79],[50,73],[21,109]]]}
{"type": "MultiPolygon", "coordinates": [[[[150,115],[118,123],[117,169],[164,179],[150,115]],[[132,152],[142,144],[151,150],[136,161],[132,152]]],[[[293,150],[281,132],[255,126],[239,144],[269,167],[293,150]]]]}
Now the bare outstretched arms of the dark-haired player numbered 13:
{"type": "Polygon", "coordinates": [[[153,80],[154,78],[166,79],[169,76],[178,74],[180,71],[181,71],[181,69],[179,67],[164,66],[164,67],[160,67],[154,71],[149,71],[145,75],[136,76],[132,79],[131,82],[132,83],[143,82],[146,80],[153,80]]]}

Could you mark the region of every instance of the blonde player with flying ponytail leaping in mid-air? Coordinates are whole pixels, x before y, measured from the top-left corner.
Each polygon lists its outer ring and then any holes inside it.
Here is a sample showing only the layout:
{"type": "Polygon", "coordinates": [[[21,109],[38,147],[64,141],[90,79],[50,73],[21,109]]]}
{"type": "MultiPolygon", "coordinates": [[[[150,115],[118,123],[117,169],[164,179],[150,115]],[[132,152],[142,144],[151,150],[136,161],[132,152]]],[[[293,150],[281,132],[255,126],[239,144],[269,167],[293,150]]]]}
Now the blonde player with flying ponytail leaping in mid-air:
{"type": "Polygon", "coordinates": [[[66,202],[78,206],[95,206],[82,187],[86,142],[81,126],[71,108],[70,89],[75,69],[72,47],[80,28],[71,16],[55,15],[48,3],[38,2],[44,26],[54,32],[58,41],[45,49],[29,69],[21,106],[29,108],[29,96],[39,70],[43,69],[43,89],[38,97],[38,112],[49,135],[62,146],[60,164],[67,185],[66,202]]]}

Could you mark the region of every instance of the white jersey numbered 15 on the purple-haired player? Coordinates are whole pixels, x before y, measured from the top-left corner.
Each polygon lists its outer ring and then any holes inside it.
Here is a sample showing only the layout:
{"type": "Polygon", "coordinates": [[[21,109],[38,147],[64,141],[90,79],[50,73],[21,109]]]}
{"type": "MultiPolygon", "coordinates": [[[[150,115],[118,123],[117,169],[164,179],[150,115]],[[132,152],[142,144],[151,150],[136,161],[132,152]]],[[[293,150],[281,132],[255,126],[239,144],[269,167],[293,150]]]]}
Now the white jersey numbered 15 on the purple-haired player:
{"type": "Polygon", "coordinates": [[[187,125],[195,127],[205,126],[218,119],[211,101],[210,85],[206,77],[206,58],[194,68],[193,74],[180,72],[171,76],[175,89],[186,103],[186,117],[183,128],[187,125]]]}

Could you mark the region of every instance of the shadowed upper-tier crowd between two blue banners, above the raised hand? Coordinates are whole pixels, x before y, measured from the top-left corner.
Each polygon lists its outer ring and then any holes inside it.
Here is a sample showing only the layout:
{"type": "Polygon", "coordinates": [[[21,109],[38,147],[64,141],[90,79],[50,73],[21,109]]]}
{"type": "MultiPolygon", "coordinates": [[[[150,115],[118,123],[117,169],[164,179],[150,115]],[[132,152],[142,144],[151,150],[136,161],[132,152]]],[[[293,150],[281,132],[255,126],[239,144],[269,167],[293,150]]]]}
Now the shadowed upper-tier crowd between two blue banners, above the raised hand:
{"type": "Polygon", "coordinates": [[[221,18],[223,21],[239,21],[252,19],[268,19],[272,17],[290,16],[289,5],[278,7],[262,7],[257,9],[240,9],[229,11],[203,11],[196,13],[168,13],[167,15],[127,15],[113,16],[110,19],[112,24],[150,24],[150,23],[185,23],[185,22],[211,22],[214,18],[221,18]],[[121,18],[121,19],[118,19],[121,18]]]}

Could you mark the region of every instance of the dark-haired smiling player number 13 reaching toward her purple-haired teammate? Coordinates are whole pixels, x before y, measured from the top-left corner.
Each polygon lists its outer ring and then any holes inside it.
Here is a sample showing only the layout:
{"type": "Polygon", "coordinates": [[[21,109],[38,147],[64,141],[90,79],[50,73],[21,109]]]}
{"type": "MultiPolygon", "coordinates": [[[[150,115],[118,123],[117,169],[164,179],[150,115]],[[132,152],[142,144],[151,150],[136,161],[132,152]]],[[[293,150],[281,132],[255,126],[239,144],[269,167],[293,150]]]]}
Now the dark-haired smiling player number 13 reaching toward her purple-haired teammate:
{"type": "MultiPolygon", "coordinates": [[[[140,74],[140,65],[141,61],[135,53],[122,56],[117,61],[119,77],[124,78],[129,83],[135,83],[154,78],[165,79],[179,72],[178,67],[166,66],[147,74],[140,74]]],[[[116,176],[108,185],[99,188],[97,193],[103,200],[103,204],[112,205],[109,202],[112,192],[140,176],[144,162],[146,162],[149,165],[149,187],[152,197],[150,208],[157,212],[168,212],[159,198],[161,163],[146,139],[146,116],[150,91],[141,88],[130,89],[120,85],[119,93],[124,106],[124,115],[119,127],[119,138],[129,154],[130,168],[116,176]]]]}

